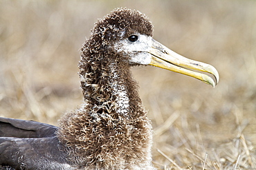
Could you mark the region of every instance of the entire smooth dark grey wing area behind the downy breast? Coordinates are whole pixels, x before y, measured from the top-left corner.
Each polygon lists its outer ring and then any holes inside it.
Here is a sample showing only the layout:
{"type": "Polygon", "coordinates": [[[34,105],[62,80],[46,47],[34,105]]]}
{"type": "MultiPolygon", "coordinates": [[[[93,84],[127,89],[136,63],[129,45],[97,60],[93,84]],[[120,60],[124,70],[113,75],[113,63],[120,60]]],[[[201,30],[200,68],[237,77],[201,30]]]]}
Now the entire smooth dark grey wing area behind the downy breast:
{"type": "Polygon", "coordinates": [[[53,125],[0,118],[0,169],[73,169],[56,131],[53,125]]]}

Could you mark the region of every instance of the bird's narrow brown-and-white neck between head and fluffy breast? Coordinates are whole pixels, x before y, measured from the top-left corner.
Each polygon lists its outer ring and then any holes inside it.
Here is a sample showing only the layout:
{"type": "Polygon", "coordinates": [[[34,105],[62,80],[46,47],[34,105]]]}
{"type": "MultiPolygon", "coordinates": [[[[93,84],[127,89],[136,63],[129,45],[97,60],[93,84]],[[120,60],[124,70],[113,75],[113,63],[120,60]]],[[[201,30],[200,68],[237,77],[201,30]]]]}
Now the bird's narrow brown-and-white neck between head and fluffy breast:
{"type": "Polygon", "coordinates": [[[143,113],[137,85],[131,78],[128,64],[109,61],[103,65],[100,63],[97,68],[88,71],[80,72],[87,111],[93,109],[94,113],[97,110],[97,114],[104,112],[127,118],[138,116],[138,112],[143,113]]]}

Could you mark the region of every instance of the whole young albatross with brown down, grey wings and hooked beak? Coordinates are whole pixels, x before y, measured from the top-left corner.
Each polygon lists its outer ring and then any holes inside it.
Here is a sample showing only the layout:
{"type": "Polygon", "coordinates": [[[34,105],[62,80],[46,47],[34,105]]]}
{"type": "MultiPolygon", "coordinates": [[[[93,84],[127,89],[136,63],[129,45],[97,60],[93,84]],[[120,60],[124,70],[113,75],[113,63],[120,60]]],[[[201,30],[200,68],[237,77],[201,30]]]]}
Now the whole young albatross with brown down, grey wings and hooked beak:
{"type": "Polygon", "coordinates": [[[152,125],[129,67],[154,65],[213,87],[219,74],[212,65],[186,59],[161,45],[152,33],[151,21],[136,10],[118,8],[98,20],[81,49],[84,104],[65,114],[59,127],[1,118],[2,167],[154,169],[152,125]]]}

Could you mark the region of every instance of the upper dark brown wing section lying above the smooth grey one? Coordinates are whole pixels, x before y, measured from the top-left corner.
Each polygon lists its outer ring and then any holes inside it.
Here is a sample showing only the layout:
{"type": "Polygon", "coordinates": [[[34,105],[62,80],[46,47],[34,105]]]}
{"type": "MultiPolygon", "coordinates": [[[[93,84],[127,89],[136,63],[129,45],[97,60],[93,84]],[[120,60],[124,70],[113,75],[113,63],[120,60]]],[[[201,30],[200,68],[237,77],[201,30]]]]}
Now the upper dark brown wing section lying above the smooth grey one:
{"type": "Polygon", "coordinates": [[[45,123],[0,118],[0,137],[45,138],[55,136],[57,127],[45,123]]]}

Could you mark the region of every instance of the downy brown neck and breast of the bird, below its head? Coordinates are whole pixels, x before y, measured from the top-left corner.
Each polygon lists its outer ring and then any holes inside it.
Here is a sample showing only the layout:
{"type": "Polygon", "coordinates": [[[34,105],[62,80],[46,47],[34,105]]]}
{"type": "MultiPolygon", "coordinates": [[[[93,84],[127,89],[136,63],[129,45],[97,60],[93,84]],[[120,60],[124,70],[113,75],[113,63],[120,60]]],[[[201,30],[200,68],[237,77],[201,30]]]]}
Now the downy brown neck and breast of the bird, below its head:
{"type": "Polygon", "coordinates": [[[68,160],[88,169],[129,169],[120,166],[139,156],[136,164],[145,167],[151,162],[152,126],[129,65],[95,59],[100,56],[82,57],[79,64],[85,104],[60,120],[57,134],[68,160]]]}

